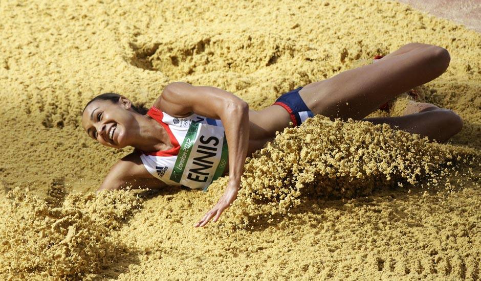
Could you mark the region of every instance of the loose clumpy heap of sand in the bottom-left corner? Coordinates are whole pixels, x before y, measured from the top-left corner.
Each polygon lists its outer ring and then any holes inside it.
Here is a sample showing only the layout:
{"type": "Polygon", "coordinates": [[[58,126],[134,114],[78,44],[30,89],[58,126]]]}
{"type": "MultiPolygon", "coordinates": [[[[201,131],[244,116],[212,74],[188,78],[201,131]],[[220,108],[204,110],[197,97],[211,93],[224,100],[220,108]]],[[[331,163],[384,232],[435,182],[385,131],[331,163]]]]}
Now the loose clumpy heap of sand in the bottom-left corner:
{"type": "Polygon", "coordinates": [[[69,195],[60,206],[19,188],[2,198],[0,276],[77,279],[125,257],[129,248],[112,231],[140,200],[125,191],[69,195]]]}

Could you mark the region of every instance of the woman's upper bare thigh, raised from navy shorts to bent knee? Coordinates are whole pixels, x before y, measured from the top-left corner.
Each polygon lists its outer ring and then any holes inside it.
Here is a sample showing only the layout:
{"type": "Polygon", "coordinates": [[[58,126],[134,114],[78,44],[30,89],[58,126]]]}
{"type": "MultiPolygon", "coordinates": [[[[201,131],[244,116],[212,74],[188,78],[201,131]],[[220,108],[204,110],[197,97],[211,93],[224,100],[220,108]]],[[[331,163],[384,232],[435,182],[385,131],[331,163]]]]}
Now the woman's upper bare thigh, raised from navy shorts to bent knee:
{"type": "Polygon", "coordinates": [[[426,46],[311,83],[299,95],[314,114],[361,120],[400,93],[440,76],[448,65],[444,48],[426,46]]]}

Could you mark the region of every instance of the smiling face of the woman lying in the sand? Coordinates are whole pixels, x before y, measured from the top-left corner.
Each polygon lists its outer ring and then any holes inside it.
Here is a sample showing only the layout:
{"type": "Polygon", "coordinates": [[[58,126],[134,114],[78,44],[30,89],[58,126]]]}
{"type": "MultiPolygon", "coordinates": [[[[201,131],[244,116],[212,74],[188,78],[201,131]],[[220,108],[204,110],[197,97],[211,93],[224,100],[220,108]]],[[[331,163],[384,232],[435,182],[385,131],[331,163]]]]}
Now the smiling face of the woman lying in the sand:
{"type": "Polygon", "coordinates": [[[135,128],[137,121],[132,103],[121,97],[117,103],[96,100],[85,108],[82,126],[90,137],[108,147],[123,148],[132,141],[129,128],[135,128]]]}

